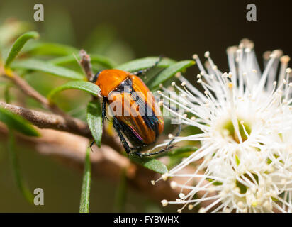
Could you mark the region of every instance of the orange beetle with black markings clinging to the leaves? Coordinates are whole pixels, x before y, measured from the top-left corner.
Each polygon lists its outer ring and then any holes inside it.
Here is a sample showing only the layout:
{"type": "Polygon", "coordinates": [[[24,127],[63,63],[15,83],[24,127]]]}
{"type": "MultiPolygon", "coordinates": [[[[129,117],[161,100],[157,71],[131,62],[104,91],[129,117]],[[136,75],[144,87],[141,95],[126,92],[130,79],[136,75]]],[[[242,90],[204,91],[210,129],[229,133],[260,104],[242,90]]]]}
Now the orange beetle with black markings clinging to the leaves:
{"type": "Polygon", "coordinates": [[[169,141],[164,149],[155,153],[140,153],[143,147],[155,143],[164,129],[159,106],[148,87],[138,77],[151,68],[138,72],[103,70],[92,80],[99,86],[103,96],[103,119],[106,117],[106,104],[108,104],[113,114],[113,127],[128,154],[150,156],[172,148],[173,140],[169,141]],[[130,148],[125,138],[130,141],[133,148],[130,148]]]}

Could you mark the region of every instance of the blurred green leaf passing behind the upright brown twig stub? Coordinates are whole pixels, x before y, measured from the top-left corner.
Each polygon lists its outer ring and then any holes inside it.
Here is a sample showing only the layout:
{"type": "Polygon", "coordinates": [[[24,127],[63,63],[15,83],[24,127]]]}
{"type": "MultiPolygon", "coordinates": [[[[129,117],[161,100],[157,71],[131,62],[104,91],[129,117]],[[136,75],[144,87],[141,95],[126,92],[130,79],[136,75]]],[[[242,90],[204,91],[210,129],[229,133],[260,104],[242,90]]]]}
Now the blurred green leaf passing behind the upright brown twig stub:
{"type": "MultiPolygon", "coordinates": [[[[80,60],[79,56],[76,56],[78,60],[80,60]]],[[[90,55],[91,58],[91,64],[99,64],[102,65],[103,67],[106,68],[113,68],[114,65],[116,65],[115,62],[113,62],[111,59],[108,57],[104,57],[102,55],[90,55]]],[[[69,64],[69,63],[78,63],[74,55],[67,55],[63,57],[57,57],[49,61],[50,63],[54,65],[64,65],[64,64],[69,64]]]]}

